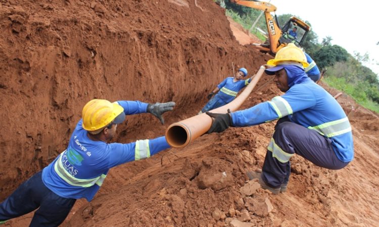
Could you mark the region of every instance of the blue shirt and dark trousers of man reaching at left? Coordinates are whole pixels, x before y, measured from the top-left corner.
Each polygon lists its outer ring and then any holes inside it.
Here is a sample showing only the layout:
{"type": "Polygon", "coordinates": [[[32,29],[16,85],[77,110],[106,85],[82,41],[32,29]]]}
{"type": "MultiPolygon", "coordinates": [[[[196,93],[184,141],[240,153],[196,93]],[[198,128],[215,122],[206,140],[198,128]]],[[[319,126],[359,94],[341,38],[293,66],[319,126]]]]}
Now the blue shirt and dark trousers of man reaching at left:
{"type": "MultiPolygon", "coordinates": [[[[118,101],[118,104],[124,108],[125,115],[144,113],[148,106],[139,101],[118,101]]],[[[148,158],[169,147],[164,136],[127,144],[93,141],[80,120],[67,149],[0,204],[0,221],[39,207],[30,225],[57,226],[66,218],[76,199],[93,199],[110,168],[148,158]]]]}

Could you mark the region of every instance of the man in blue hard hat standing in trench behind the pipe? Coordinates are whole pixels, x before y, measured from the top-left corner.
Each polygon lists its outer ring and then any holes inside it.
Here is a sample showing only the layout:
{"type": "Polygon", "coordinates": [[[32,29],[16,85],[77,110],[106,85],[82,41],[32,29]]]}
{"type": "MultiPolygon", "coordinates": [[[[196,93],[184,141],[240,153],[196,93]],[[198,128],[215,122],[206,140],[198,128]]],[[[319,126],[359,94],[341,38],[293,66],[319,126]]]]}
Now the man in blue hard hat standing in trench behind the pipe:
{"type": "Polygon", "coordinates": [[[248,80],[242,80],[244,77],[248,75],[248,71],[245,68],[239,69],[234,77],[227,77],[225,80],[223,80],[217,87],[207,96],[208,103],[203,107],[203,109],[199,112],[203,113],[205,111],[209,111],[215,108],[218,108],[220,106],[223,106],[235,98],[237,96],[238,92],[246,87],[250,81],[251,78],[248,80]],[[220,92],[218,92],[220,91],[220,92]],[[218,92],[213,98],[212,96],[218,92]]]}

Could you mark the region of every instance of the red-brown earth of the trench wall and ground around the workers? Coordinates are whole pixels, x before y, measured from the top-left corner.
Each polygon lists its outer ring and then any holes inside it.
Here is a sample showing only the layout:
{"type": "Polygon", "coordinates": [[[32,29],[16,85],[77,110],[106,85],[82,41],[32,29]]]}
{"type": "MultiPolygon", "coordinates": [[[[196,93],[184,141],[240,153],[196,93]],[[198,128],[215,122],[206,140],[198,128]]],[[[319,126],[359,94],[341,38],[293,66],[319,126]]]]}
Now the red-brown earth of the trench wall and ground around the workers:
{"type": "MultiPolygon", "coordinates": [[[[88,100],[175,101],[165,126],[130,116],[115,141],[153,138],[195,115],[232,62],[254,73],[270,58],[240,45],[213,1],[0,3],[1,200],[66,148],[88,100]]],[[[268,79],[242,108],[280,94],[262,87],[268,79]]],[[[356,152],[340,171],[294,156],[288,192],[271,195],[245,172],[262,166],[275,123],[231,128],[112,169],[62,226],[376,226],[379,120],[346,95],[338,100],[356,152]]],[[[5,226],[28,225],[31,215],[5,226]]]]}

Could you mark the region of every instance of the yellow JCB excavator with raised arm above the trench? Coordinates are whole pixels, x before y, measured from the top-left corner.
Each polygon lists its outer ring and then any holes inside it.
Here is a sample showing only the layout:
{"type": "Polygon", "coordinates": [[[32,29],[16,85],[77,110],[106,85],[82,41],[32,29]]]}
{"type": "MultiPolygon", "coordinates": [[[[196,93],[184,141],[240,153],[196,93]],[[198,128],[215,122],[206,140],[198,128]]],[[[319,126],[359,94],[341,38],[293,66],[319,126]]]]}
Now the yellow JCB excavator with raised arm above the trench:
{"type": "Polygon", "coordinates": [[[290,20],[280,29],[275,15],[273,19],[271,12],[276,11],[276,7],[270,3],[261,1],[240,1],[230,0],[230,2],[264,11],[268,31],[268,40],[264,43],[252,43],[252,45],[261,52],[269,53],[275,56],[275,53],[288,43],[293,42],[301,46],[311,27],[297,17],[291,17],[290,20]]]}

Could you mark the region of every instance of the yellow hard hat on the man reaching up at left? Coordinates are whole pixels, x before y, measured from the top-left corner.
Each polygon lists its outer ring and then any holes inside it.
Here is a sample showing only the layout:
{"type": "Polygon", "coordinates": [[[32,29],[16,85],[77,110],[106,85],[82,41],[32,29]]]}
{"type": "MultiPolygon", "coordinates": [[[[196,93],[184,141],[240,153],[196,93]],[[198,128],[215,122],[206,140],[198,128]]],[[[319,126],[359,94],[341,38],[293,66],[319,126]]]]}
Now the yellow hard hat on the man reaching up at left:
{"type": "Polygon", "coordinates": [[[125,113],[124,108],[115,102],[111,103],[105,99],[92,99],[84,105],[82,118],[83,129],[91,133],[103,129],[111,123],[122,123],[125,119],[125,113]]]}

